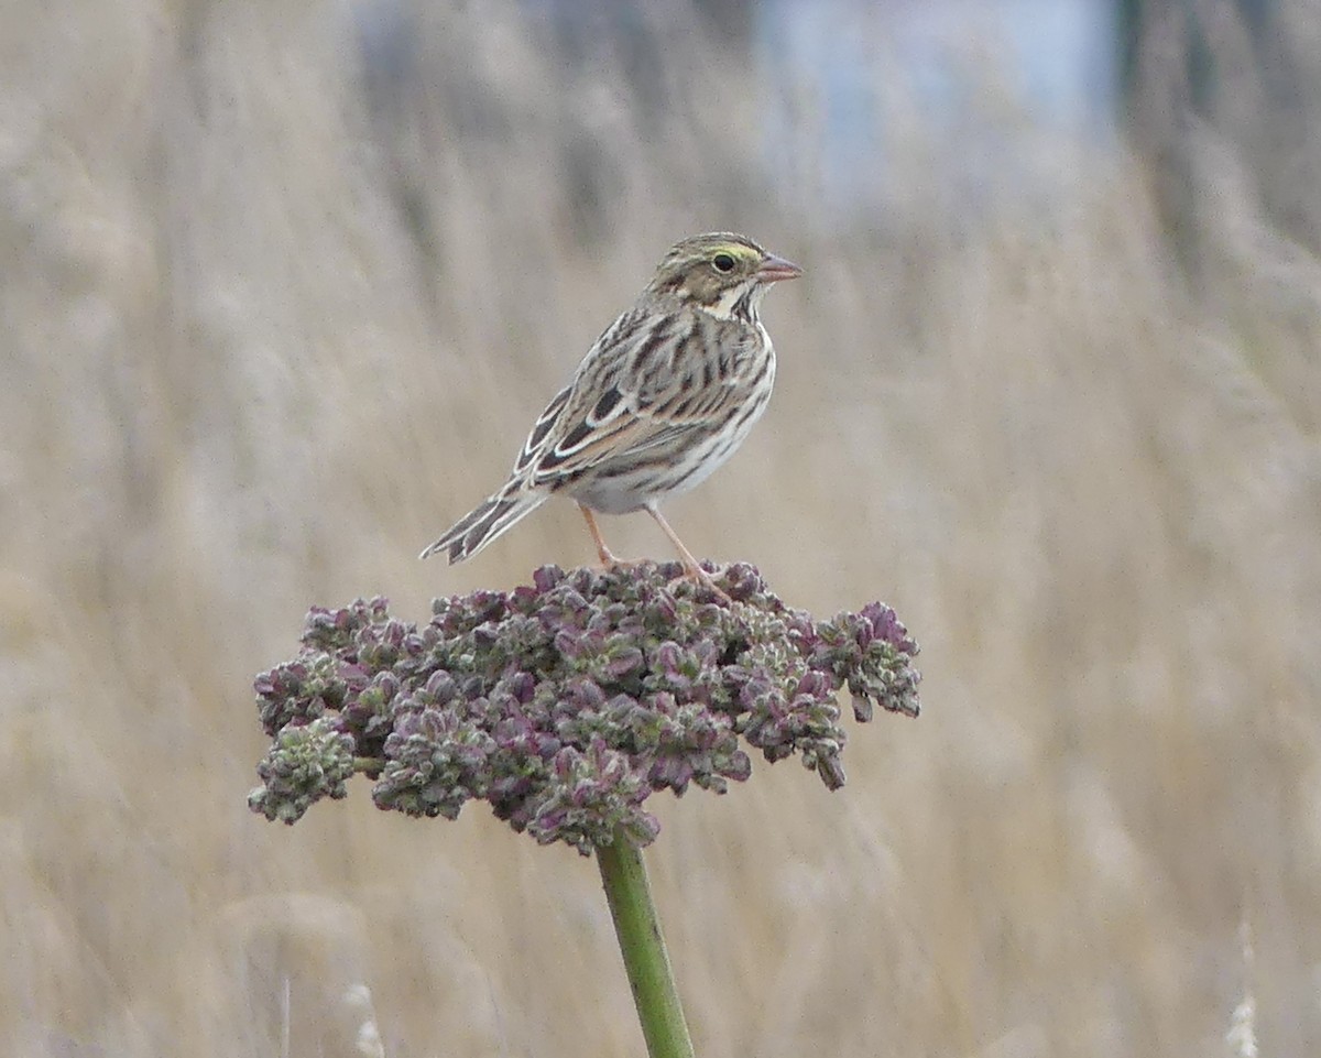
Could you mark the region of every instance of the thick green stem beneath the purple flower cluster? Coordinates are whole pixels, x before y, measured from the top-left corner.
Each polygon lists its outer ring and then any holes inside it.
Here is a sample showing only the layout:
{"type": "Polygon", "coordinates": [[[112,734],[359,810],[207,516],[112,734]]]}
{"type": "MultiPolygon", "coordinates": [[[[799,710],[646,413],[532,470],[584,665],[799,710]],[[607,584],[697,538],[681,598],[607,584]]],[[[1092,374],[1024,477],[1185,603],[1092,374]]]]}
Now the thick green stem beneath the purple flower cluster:
{"type": "Polygon", "coordinates": [[[610,918],[614,919],[614,933],[620,938],[624,968],[633,987],[642,1036],[647,1041],[647,1054],[651,1058],[694,1058],[679,991],[670,971],[670,956],[660,936],[660,921],[651,902],[642,851],[616,831],[612,844],[597,848],[596,860],[610,918]]]}

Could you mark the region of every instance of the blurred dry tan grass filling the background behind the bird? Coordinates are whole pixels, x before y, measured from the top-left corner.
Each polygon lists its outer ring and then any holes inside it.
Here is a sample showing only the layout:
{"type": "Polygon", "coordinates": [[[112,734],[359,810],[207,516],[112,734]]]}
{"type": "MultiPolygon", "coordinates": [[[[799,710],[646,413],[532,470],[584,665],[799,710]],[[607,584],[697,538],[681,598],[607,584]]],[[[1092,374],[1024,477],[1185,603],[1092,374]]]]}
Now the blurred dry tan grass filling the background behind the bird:
{"type": "Polygon", "coordinates": [[[590,861],[366,783],[262,822],[250,682],[309,604],[587,561],[553,505],[413,556],[659,251],[728,226],[810,272],[768,419],[670,514],[818,613],[894,605],[926,712],[859,730],[838,795],[762,766],[660,804],[699,1053],[1227,1054],[1251,995],[1263,1054],[1314,1054],[1321,260],[1232,152],[1190,293],[1118,151],[951,215],[910,128],[884,223],[822,222],[758,131],[798,115],[810,188],[810,86],[692,12],[639,102],[519,7],[400,3],[8,5],[4,1053],[639,1053],[590,861]]]}

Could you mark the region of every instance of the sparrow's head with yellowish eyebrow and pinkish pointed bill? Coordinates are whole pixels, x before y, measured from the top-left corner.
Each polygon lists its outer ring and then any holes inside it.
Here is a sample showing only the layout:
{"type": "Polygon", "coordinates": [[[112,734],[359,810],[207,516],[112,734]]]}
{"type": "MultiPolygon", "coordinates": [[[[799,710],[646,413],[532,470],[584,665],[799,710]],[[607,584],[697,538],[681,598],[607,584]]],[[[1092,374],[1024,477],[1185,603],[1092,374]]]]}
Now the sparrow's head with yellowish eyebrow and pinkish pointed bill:
{"type": "Polygon", "coordinates": [[[682,297],[721,318],[756,320],[770,284],[802,273],[746,235],[716,231],[675,243],[657,265],[647,293],[682,297]]]}

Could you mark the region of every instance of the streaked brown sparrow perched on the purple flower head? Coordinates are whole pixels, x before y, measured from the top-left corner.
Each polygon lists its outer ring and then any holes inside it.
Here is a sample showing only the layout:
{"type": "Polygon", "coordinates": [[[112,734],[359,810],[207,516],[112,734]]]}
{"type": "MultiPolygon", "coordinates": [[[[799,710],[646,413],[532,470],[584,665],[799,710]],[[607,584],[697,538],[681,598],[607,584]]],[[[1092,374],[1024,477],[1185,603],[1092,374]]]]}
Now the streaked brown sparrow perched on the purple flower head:
{"type": "Polygon", "coordinates": [[[538,416],[505,485],[458,519],[423,559],[470,559],[555,495],[577,502],[604,567],[596,514],[646,511],[684,576],[723,594],[660,514],[662,501],[705,481],[746,440],[775,382],[761,322],[771,284],[803,269],[746,235],[675,243],[651,281],[588,350],[538,416]]]}

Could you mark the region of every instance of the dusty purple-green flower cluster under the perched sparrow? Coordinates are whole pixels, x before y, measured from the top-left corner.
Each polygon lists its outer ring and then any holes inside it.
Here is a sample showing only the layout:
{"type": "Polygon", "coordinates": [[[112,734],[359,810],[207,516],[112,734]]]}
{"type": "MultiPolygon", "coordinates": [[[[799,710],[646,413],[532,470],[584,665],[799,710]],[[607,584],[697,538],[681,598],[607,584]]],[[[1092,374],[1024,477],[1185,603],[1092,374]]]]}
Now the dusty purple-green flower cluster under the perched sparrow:
{"type": "Polygon", "coordinates": [[[843,786],[844,686],[860,721],[873,704],[917,716],[917,645],[888,606],[818,623],[750,565],[719,577],[728,601],[679,572],[543,567],[437,600],[421,627],[383,598],[313,609],[299,656],[255,683],[272,745],[250,806],[293,823],[362,771],[380,808],[453,819],[478,798],[588,853],[617,829],[650,843],[655,790],[746,779],[745,745],[843,786]]]}

